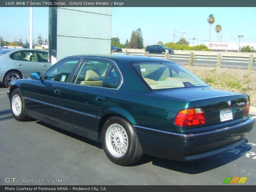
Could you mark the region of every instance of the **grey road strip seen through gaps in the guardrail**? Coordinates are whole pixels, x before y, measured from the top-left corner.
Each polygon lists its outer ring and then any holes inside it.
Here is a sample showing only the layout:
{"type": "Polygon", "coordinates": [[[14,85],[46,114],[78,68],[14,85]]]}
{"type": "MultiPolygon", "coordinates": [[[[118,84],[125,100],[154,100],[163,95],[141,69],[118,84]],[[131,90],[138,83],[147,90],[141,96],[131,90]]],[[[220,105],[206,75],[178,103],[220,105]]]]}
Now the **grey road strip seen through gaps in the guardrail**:
{"type": "MultiPolygon", "coordinates": [[[[124,53],[119,53],[119,52],[113,52],[112,54],[124,54],[124,53]]],[[[141,56],[141,53],[132,53],[132,55],[138,55],[141,56]]],[[[172,55],[171,55],[172,56],[172,55]]],[[[163,54],[164,57],[164,54],[163,54]]],[[[158,57],[159,58],[159,57],[158,57]]],[[[178,63],[178,64],[183,64],[183,65],[188,65],[189,64],[189,59],[184,59],[184,58],[172,58],[172,61],[178,63]]],[[[194,65],[201,65],[201,66],[212,66],[216,67],[216,60],[206,60],[206,59],[196,59],[194,60],[194,65]]],[[[228,67],[228,68],[245,68],[248,69],[248,62],[245,61],[221,61],[220,67],[228,67]]],[[[256,69],[256,63],[254,62],[252,64],[252,69],[256,69]]]]}

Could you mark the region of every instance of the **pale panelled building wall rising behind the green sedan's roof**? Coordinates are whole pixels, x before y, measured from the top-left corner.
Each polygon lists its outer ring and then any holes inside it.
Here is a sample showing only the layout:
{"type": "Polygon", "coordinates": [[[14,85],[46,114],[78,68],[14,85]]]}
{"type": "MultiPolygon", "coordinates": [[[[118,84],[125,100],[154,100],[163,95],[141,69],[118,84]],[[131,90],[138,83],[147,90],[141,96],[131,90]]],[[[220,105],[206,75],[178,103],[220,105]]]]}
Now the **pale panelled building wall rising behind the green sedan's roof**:
{"type": "Polygon", "coordinates": [[[111,20],[111,7],[58,8],[56,59],[77,54],[109,54],[111,20]]]}

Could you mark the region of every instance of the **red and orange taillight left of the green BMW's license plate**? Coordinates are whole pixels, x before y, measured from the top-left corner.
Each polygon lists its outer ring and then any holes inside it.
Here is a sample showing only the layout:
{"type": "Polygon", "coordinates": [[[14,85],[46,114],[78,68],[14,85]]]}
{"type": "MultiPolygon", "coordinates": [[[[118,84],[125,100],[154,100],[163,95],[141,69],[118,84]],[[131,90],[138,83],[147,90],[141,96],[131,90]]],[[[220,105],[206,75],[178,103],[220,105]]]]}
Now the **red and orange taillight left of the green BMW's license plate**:
{"type": "Polygon", "coordinates": [[[174,122],[178,126],[205,124],[204,110],[201,108],[182,109],[176,115],[174,122]]]}

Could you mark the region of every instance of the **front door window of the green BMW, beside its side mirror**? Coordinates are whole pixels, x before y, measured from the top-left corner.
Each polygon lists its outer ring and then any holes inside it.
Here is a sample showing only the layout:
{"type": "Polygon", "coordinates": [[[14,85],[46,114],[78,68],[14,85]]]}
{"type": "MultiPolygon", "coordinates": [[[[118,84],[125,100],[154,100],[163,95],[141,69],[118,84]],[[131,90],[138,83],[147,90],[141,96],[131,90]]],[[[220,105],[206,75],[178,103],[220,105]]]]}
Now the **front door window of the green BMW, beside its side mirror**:
{"type": "Polygon", "coordinates": [[[67,82],[68,76],[73,71],[79,60],[80,59],[67,59],[60,61],[46,72],[44,80],[63,83],[67,82]]]}

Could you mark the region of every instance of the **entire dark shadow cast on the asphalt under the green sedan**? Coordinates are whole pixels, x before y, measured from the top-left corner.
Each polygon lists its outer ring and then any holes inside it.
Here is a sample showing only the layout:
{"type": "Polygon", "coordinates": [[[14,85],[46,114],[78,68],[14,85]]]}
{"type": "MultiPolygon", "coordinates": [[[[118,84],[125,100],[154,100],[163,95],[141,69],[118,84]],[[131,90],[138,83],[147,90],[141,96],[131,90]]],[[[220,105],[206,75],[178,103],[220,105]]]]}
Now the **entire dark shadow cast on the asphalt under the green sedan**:
{"type": "MultiPolygon", "coordinates": [[[[83,141],[83,142],[85,142],[89,145],[92,145],[94,147],[103,149],[101,143],[99,143],[99,142],[89,140],[89,139],[79,136],[75,133],[71,133],[71,132],[62,130],[60,128],[54,127],[52,125],[46,124],[41,121],[37,121],[36,123],[40,124],[42,126],[45,126],[47,128],[50,128],[56,132],[65,134],[69,137],[73,137],[74,139],[83,141]]],[[[189,162],[163,159],[160,157],[154,157],[154,156],[149,156],[149,155],[144,154],[142,156],[142,158],[140,159],[140,161],[138,161],[137,163],[128,165],[128,166],[134,167],[134,166],[140,166],[140,165],[152,162],[152,165],[163,167],[165,169],[169,169],[172,171],[183,172],[183,173],[187,173],[187,174],[198,174],[198,173],[210,171],[212,169],[215,169],[215,168],[221,167],[225,164],[228,164],[228,163],[242,157],[241,154],[245,155],[245,153],[250,151],[251,148],[252,147],[240,145],[236,148],[228,150],[228,151],[233,150],[234,152],[226,151],[226,152],[222,152],[220,154],[210,156],[210,157],[207,157],[204,159],[199,159],[196,161],[189,161],[189,162]],[[239,150],[240,155],[237,154],[237,152],[236,152],[238,149],[240,149],[239,150]]]]}

